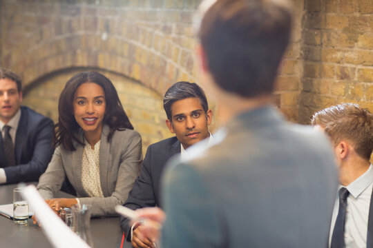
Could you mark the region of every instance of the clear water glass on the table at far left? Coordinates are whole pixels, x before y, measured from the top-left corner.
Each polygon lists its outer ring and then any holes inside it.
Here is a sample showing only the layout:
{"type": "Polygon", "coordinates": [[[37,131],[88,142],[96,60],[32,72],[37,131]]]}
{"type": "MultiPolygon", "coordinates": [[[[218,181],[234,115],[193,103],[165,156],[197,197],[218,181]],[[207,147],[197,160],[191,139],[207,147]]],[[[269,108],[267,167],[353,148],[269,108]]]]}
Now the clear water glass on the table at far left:
{"type": "Polygon", "coordinates": [[[21,191],[23,188],[13,189],[13,220],[20,225],[28,224],[28,201],[23,200],[21,191]]]}

